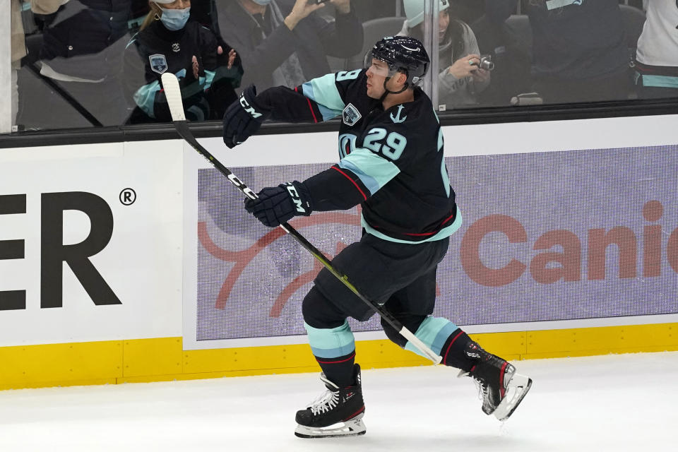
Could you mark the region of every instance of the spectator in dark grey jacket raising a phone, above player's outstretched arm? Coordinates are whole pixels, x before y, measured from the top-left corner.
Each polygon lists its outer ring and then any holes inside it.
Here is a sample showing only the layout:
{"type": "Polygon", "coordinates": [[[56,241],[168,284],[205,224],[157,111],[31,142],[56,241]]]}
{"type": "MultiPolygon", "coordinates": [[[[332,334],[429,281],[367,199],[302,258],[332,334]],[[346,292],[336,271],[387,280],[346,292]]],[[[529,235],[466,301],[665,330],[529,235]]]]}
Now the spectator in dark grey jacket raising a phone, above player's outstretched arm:
{"type": "Polygon", "coordinates": [[[348,58],[362,49],[362,25],[350,0],[330,0],[335,22],[314,12],[325,4],[308,0],[222,0],[222,36],[238,49],[246,82],[260,90],[301,85],[330,72],[326,55],[348,58]]]}

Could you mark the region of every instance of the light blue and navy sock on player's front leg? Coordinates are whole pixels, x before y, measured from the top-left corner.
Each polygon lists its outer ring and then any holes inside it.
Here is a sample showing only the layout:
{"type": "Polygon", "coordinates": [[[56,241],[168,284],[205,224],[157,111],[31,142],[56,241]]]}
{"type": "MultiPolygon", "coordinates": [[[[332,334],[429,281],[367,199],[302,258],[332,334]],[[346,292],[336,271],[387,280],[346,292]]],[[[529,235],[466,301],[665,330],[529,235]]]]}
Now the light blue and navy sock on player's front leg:
{"type": "Polygon", "coordinates": [[[304,322],[316,361],[328,380],[339,387],[352,386],[355,339],[348,322],[337,328],[314,328],[304,322]]]}

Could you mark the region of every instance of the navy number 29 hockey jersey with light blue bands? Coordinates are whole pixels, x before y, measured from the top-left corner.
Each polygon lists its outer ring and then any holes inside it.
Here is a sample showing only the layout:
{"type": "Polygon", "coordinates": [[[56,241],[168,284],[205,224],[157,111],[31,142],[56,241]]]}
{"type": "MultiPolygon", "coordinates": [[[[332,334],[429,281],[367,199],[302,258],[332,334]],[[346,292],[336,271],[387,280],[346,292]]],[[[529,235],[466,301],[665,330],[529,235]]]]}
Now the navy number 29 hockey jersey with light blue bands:
{"type": "Polygon", "coordinates": [[[314,210],[361,204],[362,226],[391,242],[448,237],[461,225],[444,160],[444,139],[429,97],[384,111],[367,95],[364,69],[340,71],[290,89],[256,97],[280,121],[318,122],[341,117],[340,160],[304,184],[314,210]]]}

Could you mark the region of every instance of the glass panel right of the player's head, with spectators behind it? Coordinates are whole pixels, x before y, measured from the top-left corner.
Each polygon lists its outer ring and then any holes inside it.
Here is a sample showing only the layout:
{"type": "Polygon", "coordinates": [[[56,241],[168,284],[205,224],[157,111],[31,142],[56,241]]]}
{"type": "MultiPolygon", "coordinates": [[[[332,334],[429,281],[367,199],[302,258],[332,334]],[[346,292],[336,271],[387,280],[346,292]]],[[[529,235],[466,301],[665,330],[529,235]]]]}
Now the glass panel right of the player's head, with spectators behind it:
{"type": "Polygon", "coordinates": [[[451,1],[451,24],[469,3],[480,16],[451,32],[451,54],[480,55],[491,70],[466,85],[440,78],[441,103],[444,89],[453,108],[678,96],[674,0],[451,1]]]}

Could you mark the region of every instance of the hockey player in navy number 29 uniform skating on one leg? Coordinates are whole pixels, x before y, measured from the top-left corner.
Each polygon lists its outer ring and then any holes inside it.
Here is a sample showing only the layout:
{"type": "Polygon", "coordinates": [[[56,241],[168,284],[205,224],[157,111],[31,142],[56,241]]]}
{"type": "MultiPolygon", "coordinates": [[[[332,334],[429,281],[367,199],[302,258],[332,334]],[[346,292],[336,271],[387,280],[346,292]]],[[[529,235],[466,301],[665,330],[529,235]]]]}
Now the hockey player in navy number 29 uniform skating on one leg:
{"type": "MultiPolygon", "coordinates": [[[[461,225],[444,162],[443,133],[429,97],[419,88],[429,66],[421,42],[385,37],[365,67],[315,78],[297,88],[246,88],[224,117],[230,147],[258,131],[267,118],[322,121],[341,116],[340,161],[303,182],[269,187],[246,209],[275,227],[295,215],[362,206],[363,235],[332,265],[363,295],[386,309],[417,338],[475,379],[482,410],[500,420],[511,415],[531,380],[491,355],[447,319],[431,316],[436,268],[449,236],[461,225]]],[[[366,321],[374,311],[323,269],[302,304],[311,350],[327,391],[297,412],[295,434],[305,438],[364,434],[360,367],[347,317],[366,321]]],[[[417,348],[385,321],[393,342],[417,348]]]]}

